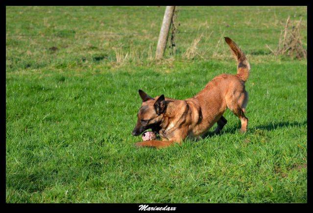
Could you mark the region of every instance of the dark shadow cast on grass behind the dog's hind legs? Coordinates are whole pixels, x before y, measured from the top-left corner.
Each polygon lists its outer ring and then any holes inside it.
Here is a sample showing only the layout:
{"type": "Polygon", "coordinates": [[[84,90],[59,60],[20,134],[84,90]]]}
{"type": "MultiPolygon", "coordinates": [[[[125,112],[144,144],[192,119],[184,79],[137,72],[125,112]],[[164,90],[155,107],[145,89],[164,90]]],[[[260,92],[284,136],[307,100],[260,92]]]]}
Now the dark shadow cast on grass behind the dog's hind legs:
{"type": "MultiPolygon", "coordinates": [[[[303,121],[303,122],[298,122],[298,121],[294,121],[294,122],[278,122],[278,123],[270,123],[270,124],[267,124],[267,125],[259,125],[259,126],[256,126],[256,127],[250,127],[248,126],[248,132],[254,132],[258,129],[263,129],[263,130],[266,130],[266,131],[272,131],[272,130],[275,130],[277,128],[284,128],[284,127],[301,127],[301,126],[304,126],[304,125],[307,125],[307,121],[303,121]]],[[[231,128],[224,128],[223,130],[221,130],[221,132],[219,134],[223,134],[223,133],[235,133],[235,132],[238,132],[239,129],[241,128],[241,125],[238,124],[236,126],[233,126],[231,128]]],[[[214,133],[214,131],[210,131],[206,137],[211,137],[211,136],[214,136],[216,135],[214,133]]]]}

